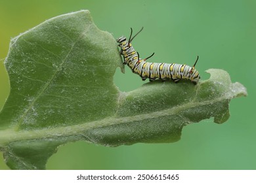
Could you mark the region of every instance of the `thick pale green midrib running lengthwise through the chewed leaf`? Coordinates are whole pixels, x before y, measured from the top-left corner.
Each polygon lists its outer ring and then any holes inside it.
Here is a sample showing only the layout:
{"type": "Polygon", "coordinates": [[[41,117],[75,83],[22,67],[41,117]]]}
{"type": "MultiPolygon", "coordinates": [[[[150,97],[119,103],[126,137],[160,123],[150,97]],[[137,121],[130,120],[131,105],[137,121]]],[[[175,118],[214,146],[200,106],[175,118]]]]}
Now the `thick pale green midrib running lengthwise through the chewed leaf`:
{"type": "Polygon", "coordinates": [[[50,137],[65,137],[70,135],[77,135],[84,131],[89,131],[90,129],[95,129],[97,127],[107,127],[111,125],[123,124],[128,122],[137,122],[140,120],[147,120],[149,118],[159,118],[161,116],[171,116],[173,114],[177,114],[181,110],[186,110],[188,108],[209,105],[213,103],[217,103],[219,101],[223,101],[225,99],[232,99],[236,97],[238,93],[233,93],[230,95],[223,95],[222,97],[218,97],[208,101],[201,102],[190,102],[185,103],[183,105],[179,105],[173,108],[167,108],[164,110],[160,110],[157,112],[151,112],[147,114],[138,114],[135,116],[127,116],[121,118],[104,118],[102,120],[96,120],[93,122],[87,122],[85,124],[71,125],[66,127],[54,127],[53,129],[36,129],[31,131],[14,131],[13,129],[6,129],[1,131],[0,133],[0,147],[5,146],[10,142],[15,141],[24,141],[24,140],[34,140],[34,139],[47,139],[50,137]]]}

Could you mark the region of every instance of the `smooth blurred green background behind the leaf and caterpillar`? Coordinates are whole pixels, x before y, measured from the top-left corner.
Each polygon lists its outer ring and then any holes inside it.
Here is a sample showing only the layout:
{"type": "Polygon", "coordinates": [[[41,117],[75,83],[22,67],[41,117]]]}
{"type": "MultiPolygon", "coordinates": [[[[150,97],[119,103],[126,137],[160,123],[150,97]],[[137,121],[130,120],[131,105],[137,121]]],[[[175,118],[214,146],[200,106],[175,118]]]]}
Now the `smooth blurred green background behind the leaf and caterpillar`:
{"type": "MultiPolygon", "coordinates": [[[[155,52],[150,61],[192,65],[199,55],[196,69],[203,80],[209,78],[205,70],[224,69],[249,95],[231,101],[226,123],[188,125],[179,142],[116,148],[70,143],[49,159],[47,169],[256,169],[255,0],[0,0],[0,108],[10,88],[3,65],[10,39],[81,9],[90,10],[98,28],[115,38],[144,26],[133,41],[142,58],[155,52]]],[[[114,82],[125,92],[145,83],[129,68],[125,75],[117,68],[114,82]]],[[[0,169],[9,169],[0,156],[0,169]]]]}

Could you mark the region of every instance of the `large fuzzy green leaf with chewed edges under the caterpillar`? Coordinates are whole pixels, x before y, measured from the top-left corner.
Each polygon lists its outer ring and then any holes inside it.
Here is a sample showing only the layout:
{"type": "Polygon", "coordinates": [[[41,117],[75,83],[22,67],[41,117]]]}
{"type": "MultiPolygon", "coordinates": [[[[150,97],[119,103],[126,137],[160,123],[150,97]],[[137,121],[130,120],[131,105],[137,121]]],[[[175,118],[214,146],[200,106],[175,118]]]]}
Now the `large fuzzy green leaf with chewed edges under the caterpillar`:
{"type": "Polygon", "coordinates": [[[11,169],[45,169],[67,142],[175,142],[185,125],[212,117],[225,122],[230,99],[247,95],[219,69],[209,69],[211,77],[196,86],[155,81],[120,92],[113,83],[116,68],[123,70],[116,40],[88,10],[12,39],[5,67],[11,93],[0,113],[0,148],[11,169]]]}

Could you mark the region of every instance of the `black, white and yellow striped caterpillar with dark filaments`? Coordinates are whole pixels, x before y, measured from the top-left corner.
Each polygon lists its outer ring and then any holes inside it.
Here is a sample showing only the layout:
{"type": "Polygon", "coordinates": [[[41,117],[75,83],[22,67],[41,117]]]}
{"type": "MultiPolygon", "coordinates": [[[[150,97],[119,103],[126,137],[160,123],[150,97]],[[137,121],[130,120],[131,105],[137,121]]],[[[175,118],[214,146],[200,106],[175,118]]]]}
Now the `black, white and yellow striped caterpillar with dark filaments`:
{"type": "MultiPolygon", "coordinates": [[[[142,31],[142,29],[140,29],[140,31],[142,31]]],[[[150,81],[153,81],[158,78],[163,81],[171,79],[174,82],[179,82],[181,79],[187,79],[194,84],[198,84],[200,75],[195,69],[198,58],[192,67],[179,63],[147,62],[146,59],[151,58],[154,53],[148,58],[140,59],[139,52],[136,52],[131,45],[131,41],[133,41],[140,31],[131,37],[133,34],[133,29],[131,28],[131,34],[128,41],[126,37],[119,37],[117,39],[118,46],[121,48],[120,54],[123,56],[123,64],[127,64],[133,73],[139,75],[142,80],[149,78],[150,81]]]]}

